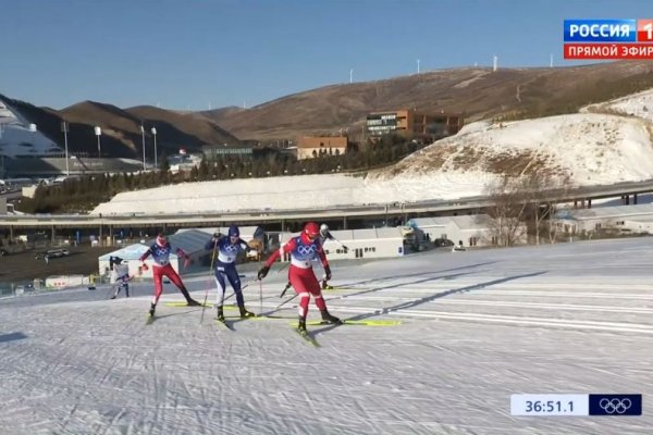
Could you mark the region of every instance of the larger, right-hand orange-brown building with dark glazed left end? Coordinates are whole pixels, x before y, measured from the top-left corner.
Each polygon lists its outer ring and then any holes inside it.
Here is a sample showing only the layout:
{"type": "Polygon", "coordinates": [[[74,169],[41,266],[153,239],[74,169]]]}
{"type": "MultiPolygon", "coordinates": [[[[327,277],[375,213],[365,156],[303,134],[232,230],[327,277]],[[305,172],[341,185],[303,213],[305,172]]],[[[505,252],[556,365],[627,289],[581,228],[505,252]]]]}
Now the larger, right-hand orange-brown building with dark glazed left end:
{"type": "Polygon", "coordinates": [[[371,138],[398,133],[407,138],[436,140],[452,136],[463,127],[463,115],[453,113],[427,114],[414,110],[377,112],[367,116],[367,133],[371,138]]]}

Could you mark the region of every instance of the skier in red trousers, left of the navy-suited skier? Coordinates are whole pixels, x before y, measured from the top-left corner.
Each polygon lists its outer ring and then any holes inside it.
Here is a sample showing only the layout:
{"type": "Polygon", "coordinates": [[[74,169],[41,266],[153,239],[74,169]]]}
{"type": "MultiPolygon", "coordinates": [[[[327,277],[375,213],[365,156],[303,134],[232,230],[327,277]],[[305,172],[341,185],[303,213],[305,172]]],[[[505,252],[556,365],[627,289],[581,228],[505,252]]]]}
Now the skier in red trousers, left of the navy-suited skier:
{"type": "MultiPolygon", "coordinates": [[[[197,307],[200,304],[198,301],[190,298],[190,295],[188,295],[188,290],[182,282],[182,278],[174,271],[174,269],[172,269],[172,264],[170,264],[170,252],[172,252],[172,246],[170,246],[170,243],[168,243],[165,236],[162,233],[159,233],[159,235],[157,236],[157,241],[152,246],[150,246],[149,249],[143,256],[140,256],[139,259],[143,262],[149,256],[152,256],[152,259],[155,260],[155,264],[152,265],[152,276],[155,278],[155,297],[152,299],[152,304],[149,311],[150,316],[155,315],[157,302],[159,302],[159,297],[161,297],[161,293],[163,291],[163,285],[161,283],[163,276],[168,276],[170,281],[178,287],[178,289],[182,291],[182,295],[184,295],[184,298],[186,298],[188,307],[197,307]]],[[[184,252],[182,249],[177,249],[176,254],[178,257],[183,257],[186,262],[189,260],[186,252],[184,252]]],[[[141,268],[144,271],[147,271],[148,269],[146,263],[143,263],[141,268]]]]}

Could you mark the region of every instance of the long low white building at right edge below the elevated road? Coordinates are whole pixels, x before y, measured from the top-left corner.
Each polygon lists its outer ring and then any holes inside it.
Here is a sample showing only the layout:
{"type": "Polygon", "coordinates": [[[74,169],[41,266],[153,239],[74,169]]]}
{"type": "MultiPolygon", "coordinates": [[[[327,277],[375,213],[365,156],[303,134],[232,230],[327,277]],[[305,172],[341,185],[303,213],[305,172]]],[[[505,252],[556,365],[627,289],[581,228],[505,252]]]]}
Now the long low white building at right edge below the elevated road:
{"type": "Polygon", "coordinates": [[[554,224],[569,235],[602,229],[653,233],[653,203],[560,210],[554,224]]]}

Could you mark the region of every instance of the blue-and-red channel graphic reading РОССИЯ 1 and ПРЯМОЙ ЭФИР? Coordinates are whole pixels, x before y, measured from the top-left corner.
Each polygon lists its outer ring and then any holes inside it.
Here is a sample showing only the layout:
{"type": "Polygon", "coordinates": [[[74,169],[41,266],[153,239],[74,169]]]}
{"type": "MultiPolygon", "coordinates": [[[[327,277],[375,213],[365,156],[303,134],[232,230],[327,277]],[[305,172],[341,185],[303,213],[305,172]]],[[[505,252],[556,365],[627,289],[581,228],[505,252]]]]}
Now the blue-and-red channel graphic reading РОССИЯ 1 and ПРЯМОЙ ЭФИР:
{"type": "Polygon", "coordinates": [[[564,36],[565,59],[653,59],[653,20],[565,20],[564,36]]]}

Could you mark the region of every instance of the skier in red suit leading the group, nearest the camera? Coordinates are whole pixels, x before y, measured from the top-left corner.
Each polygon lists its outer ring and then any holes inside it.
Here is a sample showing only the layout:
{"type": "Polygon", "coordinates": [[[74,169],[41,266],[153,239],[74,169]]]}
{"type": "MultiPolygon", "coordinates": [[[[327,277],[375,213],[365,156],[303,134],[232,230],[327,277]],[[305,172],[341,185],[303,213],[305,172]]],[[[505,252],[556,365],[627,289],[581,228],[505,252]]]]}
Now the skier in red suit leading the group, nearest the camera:
{"type": "Polygon", "coordinates": [[[319,258],[324,268],[326,278],[331,278],[331,269],[329,268],[329,261],[322,249],[322,241],[319,236],[320,227],[318,224],[315,222],[307,223],[304,226],[301,234],[291,238],[287,244],[282,246],[279,250],[275,250],[258,272],[258,278],[264,278],[270,271],[270,266],[283,256],[284,252],[291,253],[288,278],[291,285],[295,288],[297,295],[299,295],[299,324],[297,328],[300,332],[306,332],[306,316],[308,314],[310,295],[313,296],[316,307],[320,310],[324,322],[335,324],[342,323],[338,318],[331,315],[329,310],[326,310],[326,302],[324,302],[324,299],[322,298],[320,283],[312,270],[311,261],[319,258]]]}

